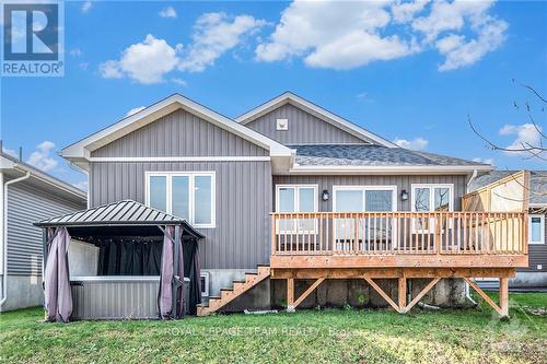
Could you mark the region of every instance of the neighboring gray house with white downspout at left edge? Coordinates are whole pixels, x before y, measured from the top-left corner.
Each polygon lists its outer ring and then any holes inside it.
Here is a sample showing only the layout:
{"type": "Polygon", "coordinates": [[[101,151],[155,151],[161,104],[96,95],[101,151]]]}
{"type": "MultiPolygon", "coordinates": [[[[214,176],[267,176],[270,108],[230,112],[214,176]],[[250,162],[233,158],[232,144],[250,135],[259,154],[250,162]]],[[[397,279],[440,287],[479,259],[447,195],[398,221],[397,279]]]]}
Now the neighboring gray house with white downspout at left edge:
{"type": "Polygon", "coordinates": [[[43,235],[33,222],[85,208],[86,195],[0,153],[0,206],[1,310],[42,305],[43,235]]]}

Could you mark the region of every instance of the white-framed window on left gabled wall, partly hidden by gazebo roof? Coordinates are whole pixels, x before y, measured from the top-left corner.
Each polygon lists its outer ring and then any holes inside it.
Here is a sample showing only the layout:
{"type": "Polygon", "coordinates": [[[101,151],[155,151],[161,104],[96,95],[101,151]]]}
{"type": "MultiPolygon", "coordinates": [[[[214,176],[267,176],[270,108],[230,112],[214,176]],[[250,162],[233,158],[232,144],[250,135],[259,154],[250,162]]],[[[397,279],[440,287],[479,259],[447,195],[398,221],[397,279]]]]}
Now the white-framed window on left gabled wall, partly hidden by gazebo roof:
{"type": "Polygon", "coordinates": [[[147,173],[147,204],[196,227],[214,227],[214,172],[147,173]]]}

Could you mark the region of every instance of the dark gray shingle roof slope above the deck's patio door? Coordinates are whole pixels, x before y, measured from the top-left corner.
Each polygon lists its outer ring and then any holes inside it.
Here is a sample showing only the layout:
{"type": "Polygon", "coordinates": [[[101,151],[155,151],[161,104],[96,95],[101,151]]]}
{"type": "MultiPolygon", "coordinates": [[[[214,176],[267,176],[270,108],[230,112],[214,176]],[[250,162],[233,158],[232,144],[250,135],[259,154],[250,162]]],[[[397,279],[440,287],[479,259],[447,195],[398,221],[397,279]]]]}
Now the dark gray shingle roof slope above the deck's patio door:
{"type": "Polygon", "coordinates": [[[289,145],[299,165],[350,166],[485,166],[451,156],[371,144],[289,145]]]}

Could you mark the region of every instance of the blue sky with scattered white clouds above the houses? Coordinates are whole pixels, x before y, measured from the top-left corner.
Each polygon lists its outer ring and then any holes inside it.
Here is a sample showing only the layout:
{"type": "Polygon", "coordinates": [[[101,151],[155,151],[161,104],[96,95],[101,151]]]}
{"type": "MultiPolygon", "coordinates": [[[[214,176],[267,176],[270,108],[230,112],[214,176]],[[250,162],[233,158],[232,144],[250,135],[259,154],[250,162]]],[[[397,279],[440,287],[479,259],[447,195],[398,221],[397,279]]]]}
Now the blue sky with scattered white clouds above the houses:
{"type": "Polygon", "coordinates": [[[178,92],[230,117],[290,90],[401,145],[499,168],[537,140],[512,79],[547,95],[547,3],[68,2],[63,78],[3,78],[1,138],[84,187],[63,146],[178,92]],[[516,110],[514,102],[521,107],[516,110]]]}

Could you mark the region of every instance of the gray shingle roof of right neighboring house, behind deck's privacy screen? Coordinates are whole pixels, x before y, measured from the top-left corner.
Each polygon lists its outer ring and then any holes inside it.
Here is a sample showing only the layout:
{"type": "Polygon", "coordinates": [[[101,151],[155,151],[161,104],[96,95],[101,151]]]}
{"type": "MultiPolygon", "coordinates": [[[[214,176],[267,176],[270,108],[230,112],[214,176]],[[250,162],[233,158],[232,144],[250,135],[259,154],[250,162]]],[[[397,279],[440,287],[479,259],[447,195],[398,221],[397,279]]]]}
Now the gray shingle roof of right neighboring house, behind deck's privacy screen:
{"type": "MultiPolygon", "coordinates": [[[[519,171],[492,171],[475,178],[469,185],[469,191],[490,185],[519,171]]],[[[529,203],[547,204],[547,171],[529,172],[529,203]]]]}

